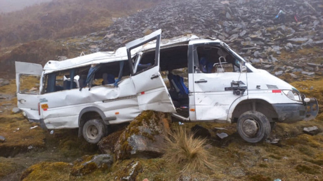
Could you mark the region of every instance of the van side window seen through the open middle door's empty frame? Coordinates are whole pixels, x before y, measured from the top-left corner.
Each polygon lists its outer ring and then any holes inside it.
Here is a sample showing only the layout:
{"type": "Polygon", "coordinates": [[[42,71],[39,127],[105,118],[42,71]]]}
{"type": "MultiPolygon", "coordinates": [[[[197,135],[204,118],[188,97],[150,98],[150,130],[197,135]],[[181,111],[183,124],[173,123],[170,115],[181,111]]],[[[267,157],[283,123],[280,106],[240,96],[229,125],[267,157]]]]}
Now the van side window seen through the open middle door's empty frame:
{"type": "Polygon", "coordinates": [[[157,62],[155,61],[155,51],[146,52],[142,55],[140,54],[135,63],[136,68],[134,70],[134,73],[139,74],[141,72],[144,72],[155,67],[156,64],[157,62]]]}

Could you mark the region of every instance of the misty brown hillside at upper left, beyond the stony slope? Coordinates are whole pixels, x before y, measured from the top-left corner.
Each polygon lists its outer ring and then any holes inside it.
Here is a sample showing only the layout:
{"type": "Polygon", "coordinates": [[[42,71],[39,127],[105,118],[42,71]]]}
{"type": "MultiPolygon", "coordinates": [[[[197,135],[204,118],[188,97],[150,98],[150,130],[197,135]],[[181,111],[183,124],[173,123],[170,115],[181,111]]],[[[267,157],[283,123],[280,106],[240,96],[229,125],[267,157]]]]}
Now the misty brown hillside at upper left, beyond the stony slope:
{"type": "Polygon", "coordinates": [[[0,16],[0,47],[40,38],[58,39],[98,31],[156,0],[55,0],[0,16]]]}

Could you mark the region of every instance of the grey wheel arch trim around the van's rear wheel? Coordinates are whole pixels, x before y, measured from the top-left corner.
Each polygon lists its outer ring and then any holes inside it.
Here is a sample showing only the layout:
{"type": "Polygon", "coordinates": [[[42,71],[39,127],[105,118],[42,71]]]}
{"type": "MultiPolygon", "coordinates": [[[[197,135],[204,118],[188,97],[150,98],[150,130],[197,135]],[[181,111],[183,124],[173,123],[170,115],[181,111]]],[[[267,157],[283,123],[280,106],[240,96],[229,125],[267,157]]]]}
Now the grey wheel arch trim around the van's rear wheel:
{"type": "Polygon", "coordinates": [[[82,136],[82,131],[83,131],[83,125],[85,124],[86,120],[88,118],[100,118],[103,120],[105,117],[103,111],[97,107],[85,107],[81,110],[79,114],[79,132],[78,132],[78,137],[82,136]]]}

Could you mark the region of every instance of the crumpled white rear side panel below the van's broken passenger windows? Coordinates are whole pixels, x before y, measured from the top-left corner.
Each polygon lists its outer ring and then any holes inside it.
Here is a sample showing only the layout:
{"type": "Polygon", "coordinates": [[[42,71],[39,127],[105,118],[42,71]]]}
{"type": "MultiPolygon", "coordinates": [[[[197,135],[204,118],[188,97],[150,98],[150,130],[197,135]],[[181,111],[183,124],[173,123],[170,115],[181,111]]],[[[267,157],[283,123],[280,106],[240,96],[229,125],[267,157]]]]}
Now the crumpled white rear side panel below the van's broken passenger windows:
{"type": "Polygon", "coordinates": [[[41,111],[48,129],[77,128],[81,110],[91,106],[102,110],[105,116],[116,116],[115,122],[125,122],[139,113],[136,91],[130,78],[121,81],[118,87],[71,89],[43,94],[39,98],[40,104],[48,105],[41,111]]]}

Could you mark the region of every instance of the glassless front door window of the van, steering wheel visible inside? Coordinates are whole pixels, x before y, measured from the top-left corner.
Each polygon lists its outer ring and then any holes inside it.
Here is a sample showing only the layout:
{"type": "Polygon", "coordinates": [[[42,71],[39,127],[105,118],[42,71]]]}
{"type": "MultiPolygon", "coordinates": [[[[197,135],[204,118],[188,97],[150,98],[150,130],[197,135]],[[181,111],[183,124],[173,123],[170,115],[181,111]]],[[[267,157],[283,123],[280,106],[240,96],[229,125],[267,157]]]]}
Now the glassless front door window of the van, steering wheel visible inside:
{"type": "MultiPolygon", "coordinates": [[[[239,61],[228,51],[218,46],[198,46],[197,73],[240,72],[239,61]]],[[[196,57],[196,56],[195,56],[196,57]]]]}

